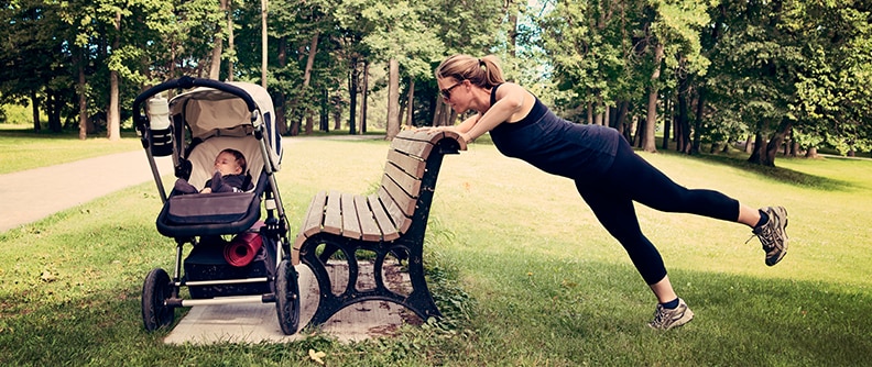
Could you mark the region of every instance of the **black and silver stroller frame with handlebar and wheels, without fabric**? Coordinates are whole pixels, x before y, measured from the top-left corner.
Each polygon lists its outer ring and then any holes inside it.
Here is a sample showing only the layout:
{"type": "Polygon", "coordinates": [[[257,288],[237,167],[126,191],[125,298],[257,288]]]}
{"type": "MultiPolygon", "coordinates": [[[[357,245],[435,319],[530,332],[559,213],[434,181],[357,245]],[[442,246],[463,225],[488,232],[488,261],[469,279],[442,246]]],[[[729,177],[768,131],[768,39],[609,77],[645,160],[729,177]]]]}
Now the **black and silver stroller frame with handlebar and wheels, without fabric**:
{"type": "MultiPolygon", "coordinates": [[[[173,98],[170,103],[172,104],[176,98],[173,98]]],[[[194,97],[192,96],[189,98],[194,97]]],[[[264,131],[264,125],[266,125],[266,123],[264,123],[263,119],[274,118],[274,114],[273,114],[272,101],[269,99],[269,94],[265,92],[265,89],[262,89],[259,86],[244,86],[244,84],[229,84],[190,77],[167,80],[143,91],[133,101],[135,127],[140,135],[142,147],[145,151],[146,157],[149,159],[149,165],[152,175],[154,176],[162,203],[164,204],[164,209],[157,219],[157,229],[163,235],[171,236],[176,242],[175,266],[172,278],[164,269],[154,268],[145,277],[145,281],[143,283],[142,319],[148,331],[154,331],[172,324],[175,320],[174,309],[181,307],[274,302],[276,305],[279,324],[282,329],[282,332],[287,335],[296,333],[299,324],[299,289],[297,285],[298,275],[294,266],[291,265],[291,252],[287,241],[288,225],[274,175],[279,170],[279,165],[276,162],[276,155],[272,148],[274,148],[279,143],[277,138],[272,141],[271,138],[273,138],[273,136],[269,135],[274,133],[274,131],[270,131],[271,126],[268,125],[265,127],[266,131],[264,131]],[[258,100],[255,100],[255,98],[253,98],[249,91],[242,87],[253,88],[259,94],[260,104],[268,105],[260,105],[258,100]],[[257,90],[258,88],[261,90],[257,90]],[[264,253],[264,256],[273,256],[272,262],[264,262],[266,266],[272,265],[275,267],[273,269],[269,269],[273,270],[271,275],[265,277],[257,276],[216,280],[189,280],[187,279],[189,274],[185,274],[183,276],[182,262],[184,257],[184,245],[186,243],[190,243],[196,248],[198,245],[198,235],[200,238],[203,238],[205,235],[237,234],[240,233],[240,231],[247,231],[249,227],[251,227],[251,225],[254,224],[254,222],[260,219],[261,208],[260,201],[257,202],[257,205],[254,203],[254,199],[260,200],[260,196],[257,196],[252,199],[251,204],[244,213],[244,216],[232,223],[228,223],[227,225],[218,223],[199,226],[195,225],[193,229],[189,229],[185,225],[173,226],[162,223],[167,212],[167,208],[170,207],[170,201],[173,199],[173,197],[172,192],[171,197],[167,197],[166,190],[164,189],[164,184],[161,179],[161,174],[155,163],[155,156],[166,156],[172,154],[175,177],[188,179],[192,167],[187,158],[189,157],[189,149],[193,149],[195,146],[195,144],[192,144],[188,149],[185,149],[185,127],[187,127],[188,132],[192,132],[193,126],[189,125],[189,121],[187,121],[187,116],[184,114],[172,115],[172,124],[168,127],[170,131],[151,129],[151,111],[149,111],[149,114],[144,113],[144,102],[167,90],[192,90],[189,92],[178,94],[176,98],[201,91],[204,93],[217,96],[219,102],[224,100],[236,101],[236,99],[244,102],[248,113],[250,113],[250,124],[246,123],[239,125],[243,132],[241,135],[239,135],[239,131],[237,130],[238,126],[233,126],[233,131],[231,131],[230,135],[242,137],[253,135],[253,137],[258,141],[259,151],[263,157],[263,167],[261,173],[257,175],[258,184],[254,191],[262,192],[264,199],[263,207],[266,212],[266,218],[263,221],[263,225],[260,226],[258,231],[263,241],[264,247],[261,249],[261,252],[264,253]],[[268,110],[266,115],[264,115],[262,109],[268,110]],[[173,136],[175,138],[172,138],[173,136]],[[272,145],[269,145],[266,140],[270,140],[272,145]],[[172,144],[170,146],[172,149],[167,149],[167,144],[172,144]],[[183,152],[185,154],[184,156],[183,152]],[[270,246],[275,246],[274,251],[270,246]],[[260,288],[268,286],[270,291],[212,298],[208,298],[208,296],[206,296],[205,298],[199,299],[194,297],[190,299],[183,299],[179,297],[179,290],[182,287],[212,287],[212,289],[220,289],[220,287],[244,287],[249,285],[259,286],[260,288]]],[[[272,121],[266,122],[270,123],[272,121]]],[[[212,136],[219,136],[220,133],[221,131],[215,131],[215,135],[212,136]]],[[[204,141],[207,138],[209,138],[209,136],[204,138],[204,141]]],[[[194,136],[192,136],[192,142],[193,141],[194,136]]],[[[221,196],[221,193],[216,193],[214,196],[218,197],[221,196]]],[[[192,291],[192,296],[193,293],[194,292],[192,291]]]]}

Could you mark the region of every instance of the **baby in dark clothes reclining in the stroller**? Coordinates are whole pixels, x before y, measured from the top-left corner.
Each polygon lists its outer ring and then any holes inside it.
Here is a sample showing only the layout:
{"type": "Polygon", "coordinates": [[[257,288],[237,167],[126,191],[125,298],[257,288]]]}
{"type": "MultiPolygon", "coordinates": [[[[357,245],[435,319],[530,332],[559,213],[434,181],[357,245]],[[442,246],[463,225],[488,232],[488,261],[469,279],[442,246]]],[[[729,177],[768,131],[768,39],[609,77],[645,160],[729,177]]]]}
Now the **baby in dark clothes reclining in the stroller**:
{"type": "MultiPolygon", "coordinates": [[[[215,157],[215,174],[206,181],[206,187],[200,193],[209,192],[242,192],[251,190],[253,185],[247,182],[246,156],[236,149],[224,149],[215,157]],[[244,187],[243,187],[244,186],[244,187]]],[[[187,180],[178,179],[174,186],[179,193],[197,193],[197,188],[187,180]]]]}

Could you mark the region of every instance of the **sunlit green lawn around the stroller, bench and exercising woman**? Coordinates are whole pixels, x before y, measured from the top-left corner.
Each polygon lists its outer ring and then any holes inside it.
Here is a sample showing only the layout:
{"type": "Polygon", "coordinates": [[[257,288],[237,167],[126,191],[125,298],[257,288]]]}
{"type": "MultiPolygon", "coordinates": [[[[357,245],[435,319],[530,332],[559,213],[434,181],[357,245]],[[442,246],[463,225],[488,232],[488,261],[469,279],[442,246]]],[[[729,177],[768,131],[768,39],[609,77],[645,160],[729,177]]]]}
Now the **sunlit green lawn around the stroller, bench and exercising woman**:
{"type": "MultiPolygon", "coordinates": [[[[292,229],[321,189],[363,193],[388,143],[285,140],[279,182],[292,229]]],[[[153,184],[0,234],[0,365],[861,366],[872,355],[872,162],[643,154],[676,181],[759,207],[783,204],[791,249],[766,267],[738,224],[637,207],[696,313],[645,326],[654,298],[571,181],[473,144],[443,165],[425,260],[447,320],[342,345],[167,346],[142,329],[139,293],[168,268],[153,184]]],[[[184,310],[178,310],[179,314],[184,310]]]]}

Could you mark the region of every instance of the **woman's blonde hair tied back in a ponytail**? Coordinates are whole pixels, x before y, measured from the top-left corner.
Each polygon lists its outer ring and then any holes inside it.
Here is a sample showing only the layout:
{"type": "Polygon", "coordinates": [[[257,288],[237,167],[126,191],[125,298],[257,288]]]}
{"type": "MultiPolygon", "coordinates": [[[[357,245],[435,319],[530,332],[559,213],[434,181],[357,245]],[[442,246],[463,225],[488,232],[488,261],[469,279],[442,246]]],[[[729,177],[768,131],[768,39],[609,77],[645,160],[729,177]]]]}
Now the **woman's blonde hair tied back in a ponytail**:
{"type": "Polygon", "coordinates": [[[446,58],[436,68],[436,79],[448,80],[449,87],[442,89],[443,97],[450,99],[450,86],[469,80],[469,84],[484,89],[505,82],[497,56],[488,55],[476,58],[469,55],[454,55],[446,58]]]}

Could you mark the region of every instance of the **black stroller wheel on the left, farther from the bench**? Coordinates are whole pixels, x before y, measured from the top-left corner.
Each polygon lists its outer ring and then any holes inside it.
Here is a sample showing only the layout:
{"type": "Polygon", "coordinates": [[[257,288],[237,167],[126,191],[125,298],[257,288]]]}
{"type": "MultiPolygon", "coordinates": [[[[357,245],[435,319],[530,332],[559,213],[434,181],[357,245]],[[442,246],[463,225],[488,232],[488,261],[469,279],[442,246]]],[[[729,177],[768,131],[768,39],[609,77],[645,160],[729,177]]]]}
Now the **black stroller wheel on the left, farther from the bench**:
{"type": "Polygon", "coordinates": [[[166,271],[152,269],[142,286],[142,321],[145,330],[151,332],[173,323],[175,312],[164,302],[172,294],[173,285],[166,271]]]}

